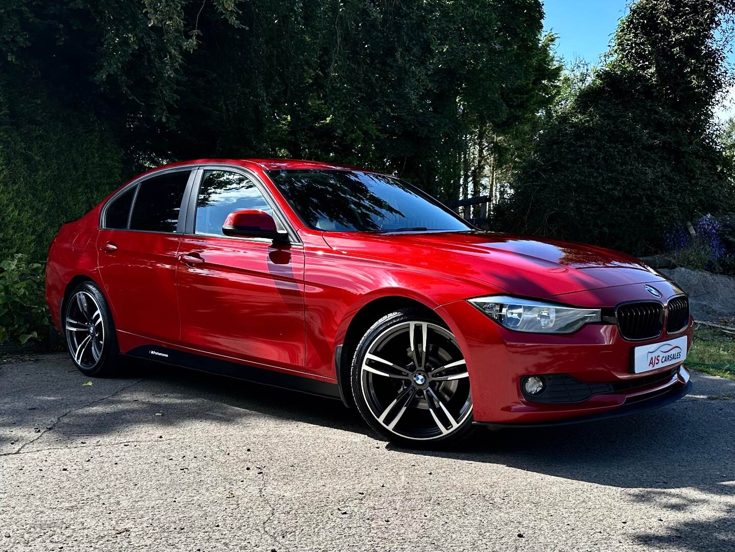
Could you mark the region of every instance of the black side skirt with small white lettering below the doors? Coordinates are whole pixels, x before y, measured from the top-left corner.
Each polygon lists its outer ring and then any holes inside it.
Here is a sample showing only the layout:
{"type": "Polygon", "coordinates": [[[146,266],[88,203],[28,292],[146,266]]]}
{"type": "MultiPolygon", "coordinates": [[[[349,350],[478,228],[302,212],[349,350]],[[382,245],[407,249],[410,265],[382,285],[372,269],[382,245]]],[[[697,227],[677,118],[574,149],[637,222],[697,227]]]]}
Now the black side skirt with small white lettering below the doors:
{"type": "Polygon", "coordinates": [[[219,376],[244,379],[245,381],[252,381],[257,384],[282,387],[284,389],[310,393],[311,395],[340,399],[339,386],[327,381],[295,376],[294,374],[267,370],[265,368],[255,368],[254,366],[214,359],[210,356],[200,354],[177,351],[176,349],[161,347],[159,345],[140,345],[140,347],[136,347],[125,354],[126,356],[134,356],[137,359],[153,360],[167,365],[189,368],[190,370],[199,370],[200,372],[213,373],[219,376]]]}

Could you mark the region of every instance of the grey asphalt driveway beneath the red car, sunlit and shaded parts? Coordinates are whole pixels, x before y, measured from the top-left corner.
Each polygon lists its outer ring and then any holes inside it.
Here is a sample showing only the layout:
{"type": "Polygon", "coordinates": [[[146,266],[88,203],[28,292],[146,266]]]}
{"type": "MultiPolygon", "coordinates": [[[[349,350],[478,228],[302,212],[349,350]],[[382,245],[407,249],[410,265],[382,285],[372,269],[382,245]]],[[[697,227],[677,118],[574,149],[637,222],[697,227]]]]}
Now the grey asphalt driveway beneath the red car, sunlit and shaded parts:
{"type": "Polygon", "coordinates": [[[735,381],[642,415],[386,445],[339,402],[0,365],[0,551],[735,551],[735,381]]]}

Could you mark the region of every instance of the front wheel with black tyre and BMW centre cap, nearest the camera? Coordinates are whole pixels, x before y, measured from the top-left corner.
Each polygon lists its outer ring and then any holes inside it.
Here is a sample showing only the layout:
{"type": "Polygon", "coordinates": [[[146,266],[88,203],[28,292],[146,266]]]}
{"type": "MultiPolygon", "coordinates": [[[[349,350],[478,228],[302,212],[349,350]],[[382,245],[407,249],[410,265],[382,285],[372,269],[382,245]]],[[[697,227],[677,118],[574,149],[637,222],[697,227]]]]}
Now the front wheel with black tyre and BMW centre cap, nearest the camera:
{"type": "Polygon", "coordinates": [[[357,345],[351,370],[357,409],[387,440],[441,448],[473,429],[465,358],[440,320],[412,309],[384,316],[357,345]]]}

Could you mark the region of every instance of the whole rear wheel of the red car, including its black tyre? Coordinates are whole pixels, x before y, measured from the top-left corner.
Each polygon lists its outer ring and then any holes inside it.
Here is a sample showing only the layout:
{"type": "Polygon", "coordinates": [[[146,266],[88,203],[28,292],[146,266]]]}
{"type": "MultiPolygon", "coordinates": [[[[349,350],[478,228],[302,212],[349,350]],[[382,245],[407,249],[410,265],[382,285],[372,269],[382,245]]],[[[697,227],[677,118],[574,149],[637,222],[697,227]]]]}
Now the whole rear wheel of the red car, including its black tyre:
{"type": "Polygon", "coordinates": [[[120,351],[110,307],[92,282],[76,286],[64,301],[62,328],[71,359],[88,376],[117,372],[120,351]]]}

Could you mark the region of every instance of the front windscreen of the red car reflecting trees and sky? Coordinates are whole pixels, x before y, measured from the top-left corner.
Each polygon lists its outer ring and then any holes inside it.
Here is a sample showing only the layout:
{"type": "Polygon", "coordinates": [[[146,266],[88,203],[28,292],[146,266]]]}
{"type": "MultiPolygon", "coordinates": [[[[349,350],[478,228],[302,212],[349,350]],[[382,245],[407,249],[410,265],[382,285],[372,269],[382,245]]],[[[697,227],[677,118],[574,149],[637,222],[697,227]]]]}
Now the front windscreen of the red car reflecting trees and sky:
{"type": "Polygon", "coordinates": [[[429,196],[390,176],[318,169],[269,171],[268,176],[313,229],[470,230],[429,196]]]}

